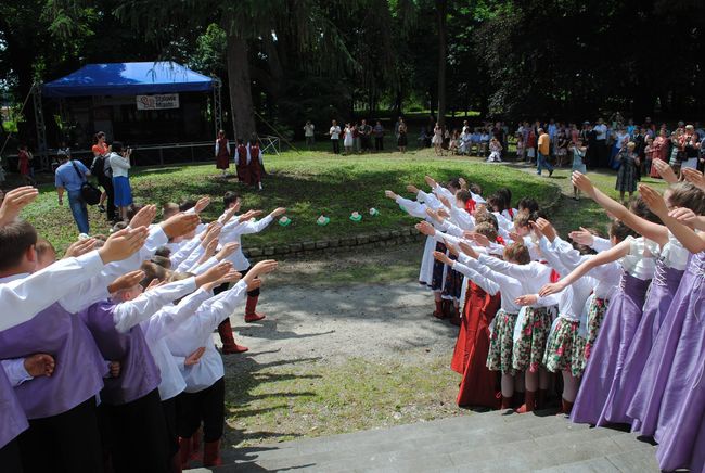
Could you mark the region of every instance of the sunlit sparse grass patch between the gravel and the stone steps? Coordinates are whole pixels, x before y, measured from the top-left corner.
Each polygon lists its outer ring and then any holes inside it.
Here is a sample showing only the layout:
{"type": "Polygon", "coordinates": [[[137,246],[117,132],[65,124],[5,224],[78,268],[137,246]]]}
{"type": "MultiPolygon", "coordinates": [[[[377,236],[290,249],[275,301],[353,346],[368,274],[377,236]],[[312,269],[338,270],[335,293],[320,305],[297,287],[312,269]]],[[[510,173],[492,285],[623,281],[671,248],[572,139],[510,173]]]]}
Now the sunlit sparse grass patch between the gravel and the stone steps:
{"type": "Polygon", "coordinates": [[[251,446],[462,414],[448,357],[293,360],[226,379],[229,445],[251,446]]]}

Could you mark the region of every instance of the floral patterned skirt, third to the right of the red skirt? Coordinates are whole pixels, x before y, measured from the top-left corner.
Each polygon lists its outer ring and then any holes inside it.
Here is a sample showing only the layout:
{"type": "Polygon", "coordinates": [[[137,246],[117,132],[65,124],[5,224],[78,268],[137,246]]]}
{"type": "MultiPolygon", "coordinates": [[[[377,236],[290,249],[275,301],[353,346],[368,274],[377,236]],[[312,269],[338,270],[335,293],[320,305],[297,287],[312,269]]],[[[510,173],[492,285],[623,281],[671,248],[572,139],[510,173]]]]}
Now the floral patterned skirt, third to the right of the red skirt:
{"type": "Polygon", "coordinates": [[[585,369],[585,338],[578,334],[579,320],[559,317],[546,346],[543,365],[552,373],[571,370],[575,378],[582,375],[585,369]]]}

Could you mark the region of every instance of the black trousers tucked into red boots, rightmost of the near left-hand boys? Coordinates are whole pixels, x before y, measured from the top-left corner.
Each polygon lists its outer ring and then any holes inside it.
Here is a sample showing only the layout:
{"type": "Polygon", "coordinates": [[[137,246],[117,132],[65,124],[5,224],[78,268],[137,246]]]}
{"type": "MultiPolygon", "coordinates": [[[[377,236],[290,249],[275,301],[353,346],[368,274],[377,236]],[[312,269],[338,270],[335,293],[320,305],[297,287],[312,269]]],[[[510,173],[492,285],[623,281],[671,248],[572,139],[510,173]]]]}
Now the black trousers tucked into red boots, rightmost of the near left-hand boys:
{"type": "Polygon", "coordinates": [[[216,381],[210,387],[197,393],[177,396],[177,433],[189,438],[203,422],[203,442],[210,443],[222,437],[226,422],[226,381],[216,381]]]}

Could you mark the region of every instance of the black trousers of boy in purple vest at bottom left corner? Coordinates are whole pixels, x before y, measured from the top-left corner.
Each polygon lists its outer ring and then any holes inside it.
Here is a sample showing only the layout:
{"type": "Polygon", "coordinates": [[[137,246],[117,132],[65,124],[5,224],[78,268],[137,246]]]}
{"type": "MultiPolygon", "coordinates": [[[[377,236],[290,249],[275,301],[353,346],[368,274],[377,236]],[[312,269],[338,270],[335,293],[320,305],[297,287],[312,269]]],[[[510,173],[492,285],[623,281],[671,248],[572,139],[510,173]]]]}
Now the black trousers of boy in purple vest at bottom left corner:
{"type": "Polygon", "coordinates": [[[17,444],[25,473],[103,471],[93,397],[57,416],[30,420],[17,444]]]}

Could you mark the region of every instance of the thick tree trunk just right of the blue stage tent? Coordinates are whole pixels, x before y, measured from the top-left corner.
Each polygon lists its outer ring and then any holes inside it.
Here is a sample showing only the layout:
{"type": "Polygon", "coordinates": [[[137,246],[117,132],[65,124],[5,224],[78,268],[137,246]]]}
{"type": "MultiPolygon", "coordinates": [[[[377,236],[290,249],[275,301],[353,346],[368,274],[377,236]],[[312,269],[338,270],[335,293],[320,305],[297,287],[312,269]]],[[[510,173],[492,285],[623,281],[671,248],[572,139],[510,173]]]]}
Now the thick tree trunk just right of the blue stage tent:
{"type": "Polygon", "coordinates": [[[248,140],[257,129],[252,101],[247,41],[228,35],[227,42],[226,59],[228,61],[228,90],[230,91],[233,138],[248,140]]]}

